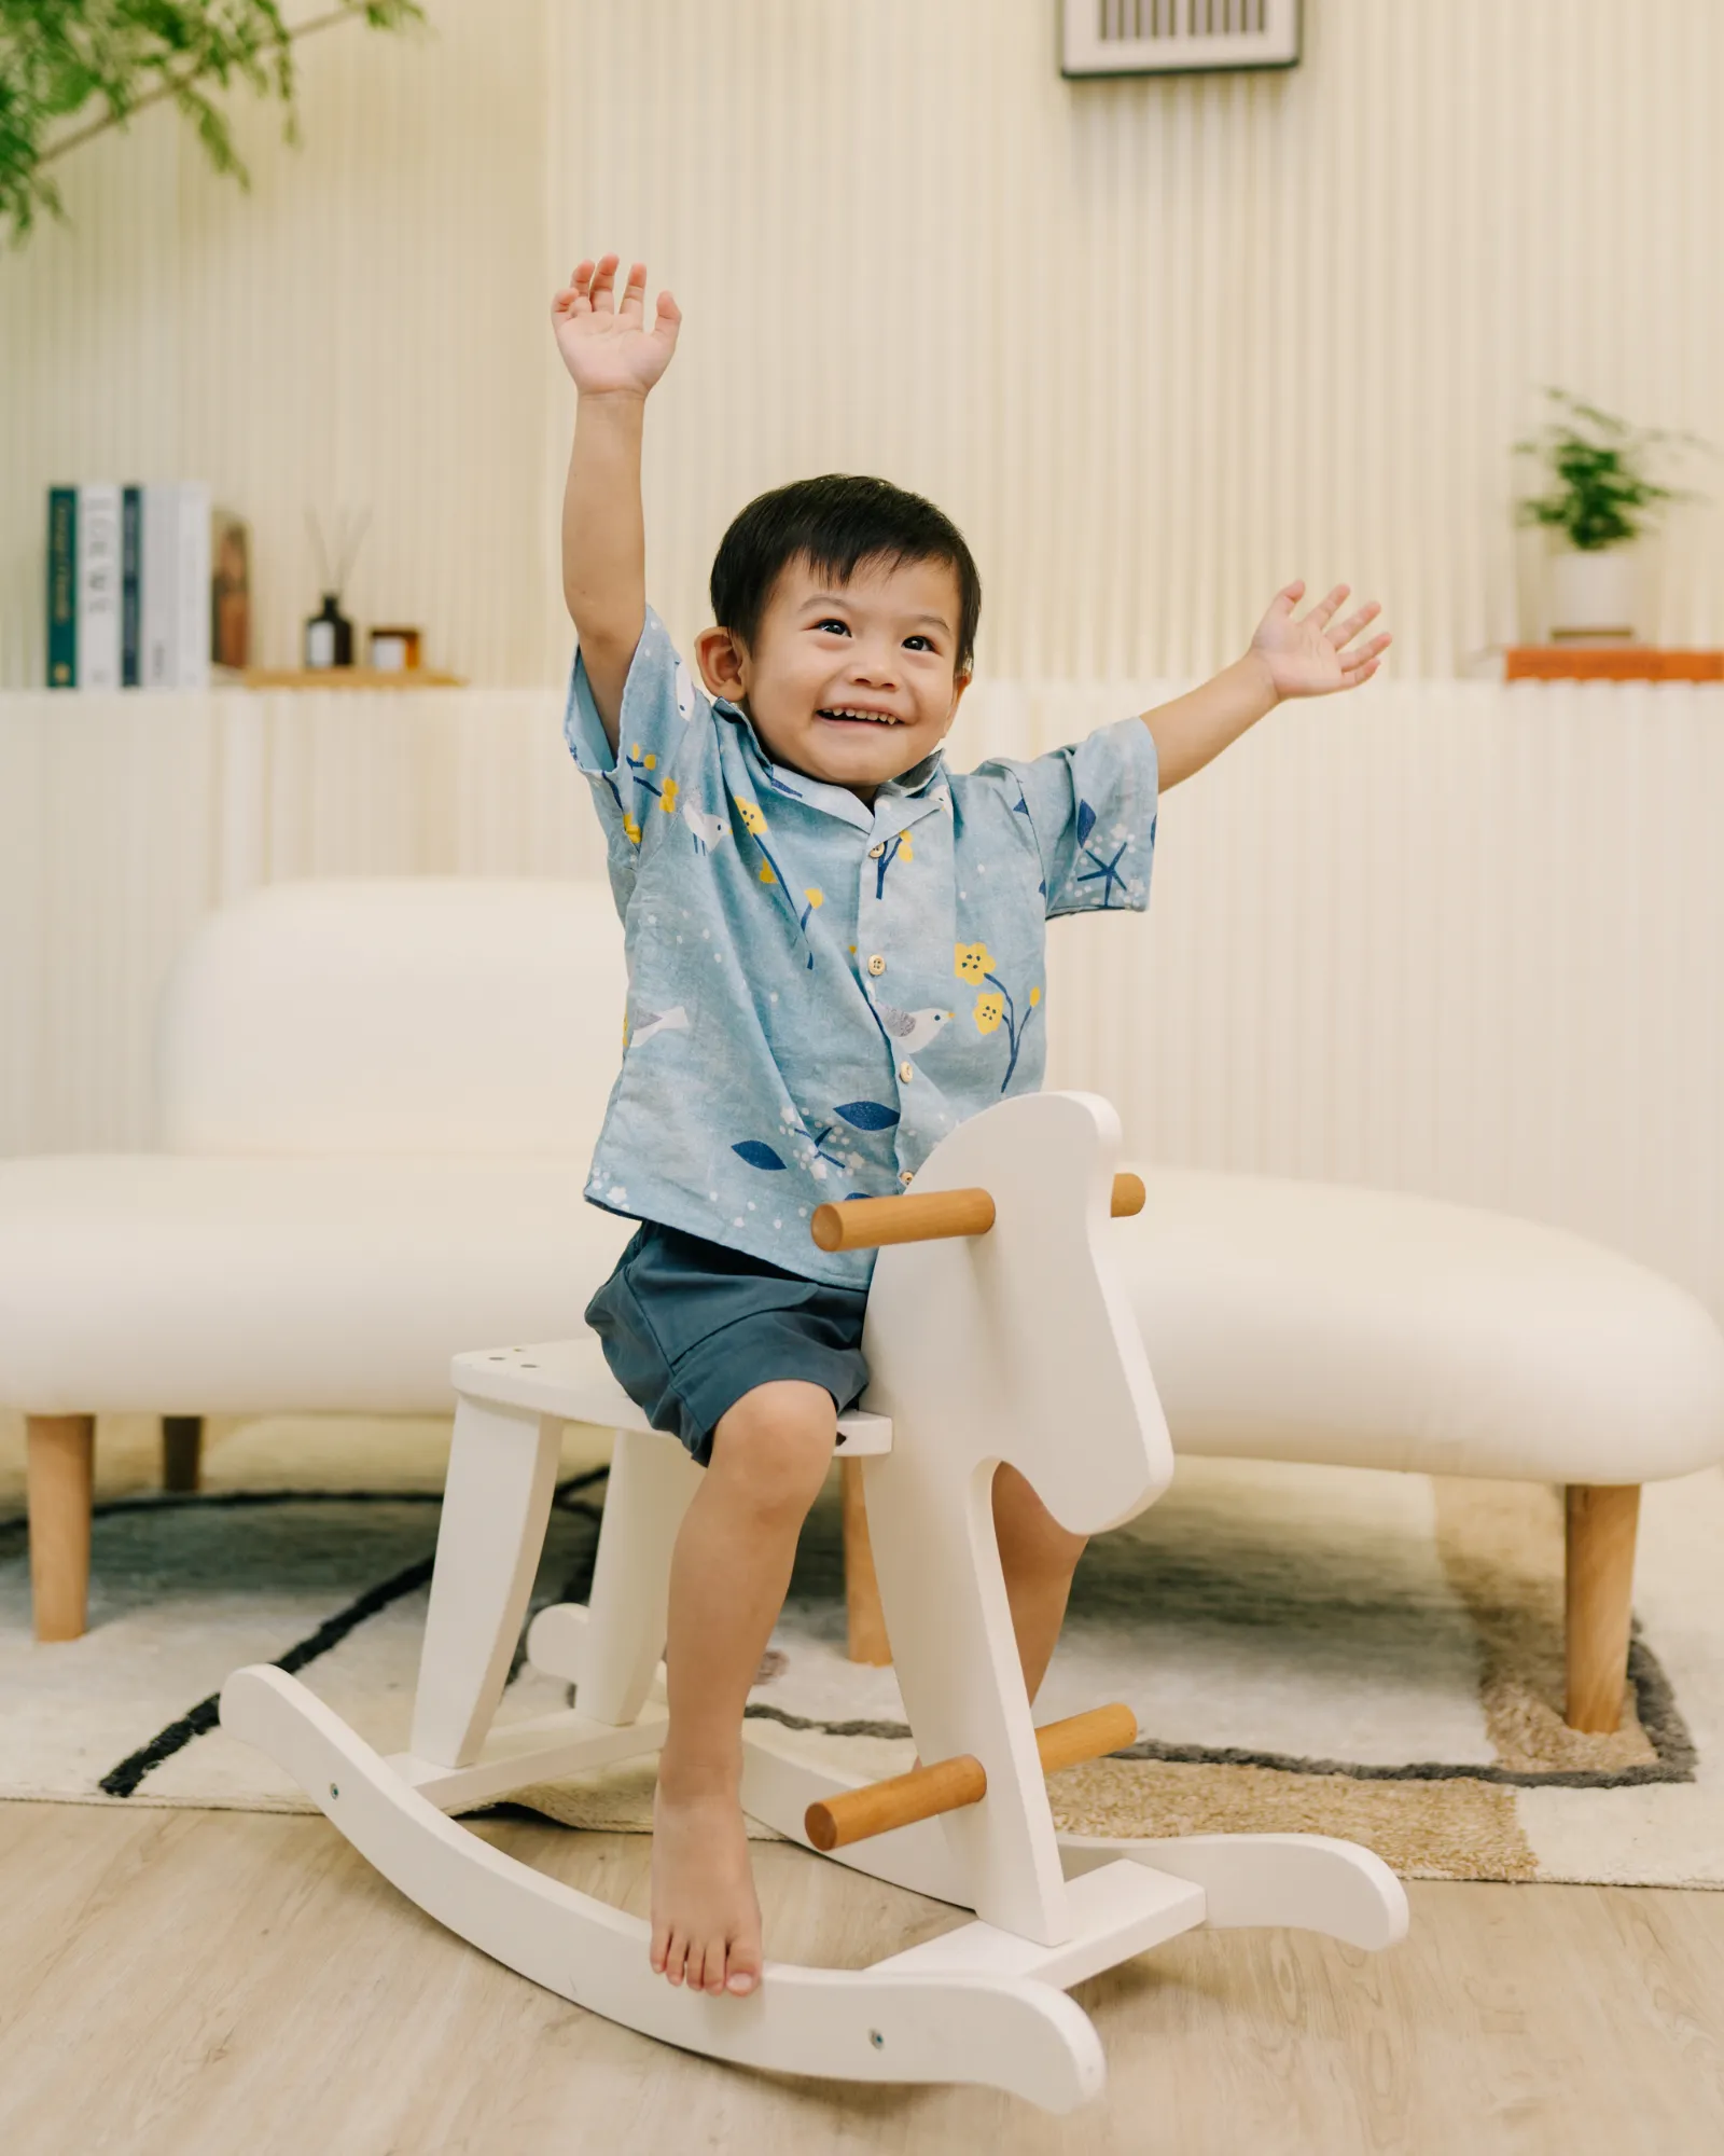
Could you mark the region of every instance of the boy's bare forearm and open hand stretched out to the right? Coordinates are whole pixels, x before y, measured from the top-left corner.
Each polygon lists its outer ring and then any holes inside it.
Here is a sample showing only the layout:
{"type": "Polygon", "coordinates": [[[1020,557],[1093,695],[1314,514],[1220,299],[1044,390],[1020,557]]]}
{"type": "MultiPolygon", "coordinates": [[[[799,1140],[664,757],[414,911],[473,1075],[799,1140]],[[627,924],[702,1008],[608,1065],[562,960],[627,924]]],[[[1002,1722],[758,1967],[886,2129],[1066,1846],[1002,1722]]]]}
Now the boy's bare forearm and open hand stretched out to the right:
{"type": "Polygon", "coordinates": [[[1364,645],[1355,645],[1353,638],[1377,619],[1381,606],[1373,599],[1345,621],[1334,621],[1347,597],[1347,586],[1336,584],[1325,599],[1295,619],[1293,608],[1304,589],[1302,582],[1293,582],[1276,593],[1241,660],[1222,668],[1202,688],[1142,714],[1155,735],[1162,793],[1200,772],[1284,696],[1330,696],[1334,690],[1358,688],[1377,673],[1377,662],[1390,645],[1388,634],[1373,636],[1364,645]]]}

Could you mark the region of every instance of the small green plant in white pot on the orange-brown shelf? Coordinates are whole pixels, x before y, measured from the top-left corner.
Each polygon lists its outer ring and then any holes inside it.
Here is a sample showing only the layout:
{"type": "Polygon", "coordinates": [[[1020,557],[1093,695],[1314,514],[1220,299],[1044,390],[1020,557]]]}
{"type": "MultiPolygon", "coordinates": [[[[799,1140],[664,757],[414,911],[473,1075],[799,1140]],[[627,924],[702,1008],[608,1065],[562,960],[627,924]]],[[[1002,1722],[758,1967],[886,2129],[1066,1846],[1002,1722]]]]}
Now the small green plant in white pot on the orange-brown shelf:
{"type": "Polygon", "coordinates": [[[1664,502],[1685,498],[1649,472],[1651,457],[1672,436],[1629,427],[1567,390],[1545,395],[1554,416],[1515,451],[1537,457],[1549,476],[1545,494],[1519,502],[1521,522],[1562,535],[1549,558],[1549,634],[1633,638],[1640,614],[1633,541],[1664,502]]]}

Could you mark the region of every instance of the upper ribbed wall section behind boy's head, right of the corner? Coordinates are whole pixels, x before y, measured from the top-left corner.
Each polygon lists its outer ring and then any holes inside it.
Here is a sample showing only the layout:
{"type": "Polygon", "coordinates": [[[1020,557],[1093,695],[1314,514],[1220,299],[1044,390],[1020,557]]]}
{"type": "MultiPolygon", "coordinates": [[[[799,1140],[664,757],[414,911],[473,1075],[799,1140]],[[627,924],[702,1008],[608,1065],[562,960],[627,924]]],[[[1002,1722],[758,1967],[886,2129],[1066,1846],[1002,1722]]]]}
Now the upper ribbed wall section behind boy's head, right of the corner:
{"type": "MultiPolygon", "coordinates": [[[[1304,17],[1289,73],[1073,84],[1054,0],[558,4],[558,267],[644,254],[687,315],[677,632],[750,494],[849,468],[965,528],[989,673],[1209,671],[1304,573],[1446,675],[1515,630],[1539,384],[1724,442],[1718,0],[1304,17]]],[[[1724,638],[1720,524],[1674,520],[1666,640],[1724,638]]]]}

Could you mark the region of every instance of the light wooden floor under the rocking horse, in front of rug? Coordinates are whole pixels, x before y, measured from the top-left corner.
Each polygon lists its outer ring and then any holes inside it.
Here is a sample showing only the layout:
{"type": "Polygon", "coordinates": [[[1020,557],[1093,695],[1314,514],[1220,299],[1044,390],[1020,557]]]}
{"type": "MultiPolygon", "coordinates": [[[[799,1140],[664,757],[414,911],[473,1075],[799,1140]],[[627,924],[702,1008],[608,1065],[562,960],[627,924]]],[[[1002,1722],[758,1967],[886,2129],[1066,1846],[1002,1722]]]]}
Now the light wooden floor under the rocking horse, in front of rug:
{"type": "MultiPolygon", "coordinates": [[[[646,1841],[487,1833],[644,1910],[646,1841]]],[[[767,1949],[856,1964],[933,1904],[759,1846],[767,1949]]],[[[1101,2104],[774,2081],[534,1990],[321,1820],[0,1805],[6,2156],[1687,2156],[1724,2150],[1724,1895],[1414,1887],[1368,1958],[1177,1940],[1078,1992],[1101,2104]]]]}

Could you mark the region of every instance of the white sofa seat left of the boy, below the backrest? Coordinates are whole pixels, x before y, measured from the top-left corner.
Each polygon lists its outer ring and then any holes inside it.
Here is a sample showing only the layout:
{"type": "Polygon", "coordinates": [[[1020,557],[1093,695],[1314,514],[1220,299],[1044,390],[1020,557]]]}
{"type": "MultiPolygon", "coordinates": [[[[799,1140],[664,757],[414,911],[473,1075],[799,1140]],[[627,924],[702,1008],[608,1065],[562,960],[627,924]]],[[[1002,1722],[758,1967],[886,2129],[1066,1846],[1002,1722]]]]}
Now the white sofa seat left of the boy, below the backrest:
{"type": "Polygon", "coordinates": [[[586,1162],[0,1162],[0,1401],[450,1412],[463,1348],[578,1332],[631,1222],[586,1162]]]}

